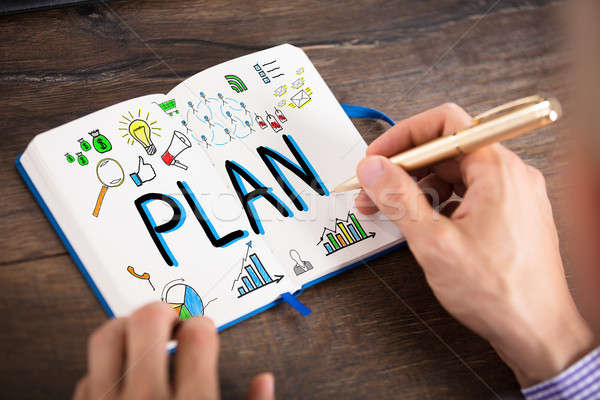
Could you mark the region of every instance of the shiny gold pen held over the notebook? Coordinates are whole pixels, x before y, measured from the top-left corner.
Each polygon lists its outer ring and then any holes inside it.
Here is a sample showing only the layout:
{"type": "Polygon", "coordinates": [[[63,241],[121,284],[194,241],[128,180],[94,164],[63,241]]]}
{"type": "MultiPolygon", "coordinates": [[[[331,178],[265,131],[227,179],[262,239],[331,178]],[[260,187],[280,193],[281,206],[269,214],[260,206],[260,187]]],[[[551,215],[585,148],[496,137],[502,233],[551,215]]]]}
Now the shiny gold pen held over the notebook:
{"type": "MultiPolygon", "coordinates": [[[[476,116],[473,125],[465,130],[413,147],[391,157],[390,161],[406,171],[413,171],[546,126],[561,115],[558,100],[537,95],[525,97],[476,116]]],[[[352,177],[333,191],[359,188],[358,179],[352,177]]]]}

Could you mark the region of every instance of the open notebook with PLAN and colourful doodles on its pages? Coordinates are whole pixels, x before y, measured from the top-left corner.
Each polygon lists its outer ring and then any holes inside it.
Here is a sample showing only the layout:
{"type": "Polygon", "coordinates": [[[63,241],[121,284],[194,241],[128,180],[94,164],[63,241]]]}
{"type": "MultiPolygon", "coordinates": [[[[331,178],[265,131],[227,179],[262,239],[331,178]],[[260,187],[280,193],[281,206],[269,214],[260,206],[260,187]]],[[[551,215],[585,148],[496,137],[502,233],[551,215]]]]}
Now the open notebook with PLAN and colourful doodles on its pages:
{"type": "Polygon", "coordinates": [[[17,166],[109,315],[162,300],[224,328],[402,242],[331,193],[365,148],[281,45],[41,133],[17,166]]]}

